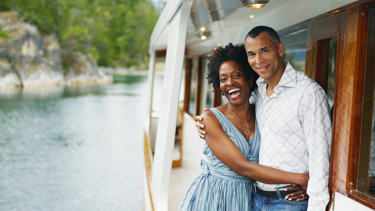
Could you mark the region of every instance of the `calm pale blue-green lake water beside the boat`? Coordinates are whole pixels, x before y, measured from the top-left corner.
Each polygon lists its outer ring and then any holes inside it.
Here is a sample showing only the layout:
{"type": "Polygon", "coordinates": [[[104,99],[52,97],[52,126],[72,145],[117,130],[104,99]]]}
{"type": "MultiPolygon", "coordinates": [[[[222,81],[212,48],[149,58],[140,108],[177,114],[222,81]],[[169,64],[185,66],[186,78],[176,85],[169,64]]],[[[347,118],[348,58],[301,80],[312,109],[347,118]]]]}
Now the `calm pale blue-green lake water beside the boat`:
{"type": "Polygon", "coordinates": [[[0,89],[0,210],[142,210],[145,90],[0,89]]]}

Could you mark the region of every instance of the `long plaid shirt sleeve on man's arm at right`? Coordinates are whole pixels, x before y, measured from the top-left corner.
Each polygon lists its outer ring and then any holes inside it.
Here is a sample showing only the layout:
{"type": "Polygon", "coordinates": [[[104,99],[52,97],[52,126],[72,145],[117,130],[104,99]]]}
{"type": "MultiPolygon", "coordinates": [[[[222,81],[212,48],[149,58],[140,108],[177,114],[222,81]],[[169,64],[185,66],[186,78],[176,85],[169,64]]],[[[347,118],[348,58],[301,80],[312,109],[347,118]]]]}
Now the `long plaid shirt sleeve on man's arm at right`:
{"type": "Polygon", "coordinates": [[[306,145],[309,153],[308,211],[325,210],[329,202],[328,180],[332,122],[327,96],[323,89],[306,95],[303,118],[306,145]]]}

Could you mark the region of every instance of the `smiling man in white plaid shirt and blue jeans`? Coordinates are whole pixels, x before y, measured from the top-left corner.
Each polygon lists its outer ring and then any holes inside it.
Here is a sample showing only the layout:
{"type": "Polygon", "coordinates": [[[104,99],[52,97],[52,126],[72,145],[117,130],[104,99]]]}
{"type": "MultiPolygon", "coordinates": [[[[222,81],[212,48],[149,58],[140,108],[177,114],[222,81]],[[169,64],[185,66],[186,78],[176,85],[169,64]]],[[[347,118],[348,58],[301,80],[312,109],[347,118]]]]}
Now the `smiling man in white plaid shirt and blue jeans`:
{"type": "MultiPolygon", "coordinates": [[[[284,44],[272,28],[252,29],[246,36],[245,48],[250,66],[260,75],[258,91],[250,99],[256,104],[261,134],[259,163],[288,172],[309,172],[310,176],[308,205],[304,201],[281,198],[279,191],[290,184],[257,182],[252,209],[325,210],[329,202],[332,138],[326,93],[319,84],[282,59],[284,44]]],[[[201,120],[200,116],[196,120],[201,120]]],[[[195,126],[204,127],[199,122],[195,126]]],[[[198,132],[203,133],[199,128],[198,132]]]]}

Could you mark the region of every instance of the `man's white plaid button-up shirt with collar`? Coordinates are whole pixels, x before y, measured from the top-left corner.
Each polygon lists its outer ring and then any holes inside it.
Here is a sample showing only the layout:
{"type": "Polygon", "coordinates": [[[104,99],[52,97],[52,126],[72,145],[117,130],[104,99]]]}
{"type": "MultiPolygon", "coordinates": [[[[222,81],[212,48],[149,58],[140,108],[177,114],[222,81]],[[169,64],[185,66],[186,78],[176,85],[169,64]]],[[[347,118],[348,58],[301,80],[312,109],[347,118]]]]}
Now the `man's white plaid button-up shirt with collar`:
{"type": "MultiPolygon", "coordinates": [[[[325,210],[329,202],[328,179],[332,122],[322,87],[284,60],[284,74],[275,93],[267,96],[267,82],[257,80],[252,96],[261,134],[259,163],[288,172],[309,172],[308,210],[325,210]]],[[[268,188],[287,184],[270,185],[268,188]]]]}

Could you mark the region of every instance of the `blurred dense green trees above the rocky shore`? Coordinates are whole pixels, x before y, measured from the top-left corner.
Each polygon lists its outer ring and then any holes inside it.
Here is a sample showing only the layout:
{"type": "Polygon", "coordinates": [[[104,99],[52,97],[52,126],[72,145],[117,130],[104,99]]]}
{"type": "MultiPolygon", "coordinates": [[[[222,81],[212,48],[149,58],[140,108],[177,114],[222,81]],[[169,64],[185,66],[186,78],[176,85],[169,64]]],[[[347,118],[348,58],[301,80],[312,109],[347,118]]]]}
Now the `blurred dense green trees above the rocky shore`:
{"type": "Polygon", "coordinates": [[[9,10],[42,33],[56,33],[64,66],[81,51],[99,66],[144,67],[159,17],[151,0],[0,0],[0,11],[9,10]]]}

